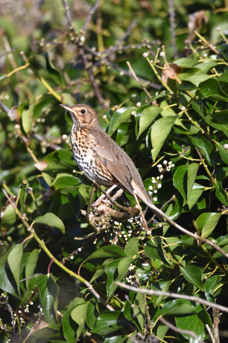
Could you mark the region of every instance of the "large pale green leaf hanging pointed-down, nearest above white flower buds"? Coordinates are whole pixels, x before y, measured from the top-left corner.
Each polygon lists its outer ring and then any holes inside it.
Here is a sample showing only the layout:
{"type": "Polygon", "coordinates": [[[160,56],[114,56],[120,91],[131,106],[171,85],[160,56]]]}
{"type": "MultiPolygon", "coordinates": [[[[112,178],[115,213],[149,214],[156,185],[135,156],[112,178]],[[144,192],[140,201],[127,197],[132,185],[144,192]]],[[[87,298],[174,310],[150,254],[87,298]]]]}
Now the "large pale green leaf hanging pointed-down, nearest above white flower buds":
{"type": "Polygon", "coordinates": [[[154,162],[168,137],[176,118],[177,115],[162,117],[152,125],[150,138],[152,143],[151,153],[154,162]]]}

